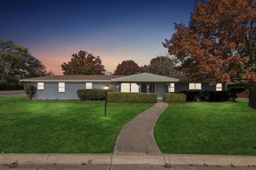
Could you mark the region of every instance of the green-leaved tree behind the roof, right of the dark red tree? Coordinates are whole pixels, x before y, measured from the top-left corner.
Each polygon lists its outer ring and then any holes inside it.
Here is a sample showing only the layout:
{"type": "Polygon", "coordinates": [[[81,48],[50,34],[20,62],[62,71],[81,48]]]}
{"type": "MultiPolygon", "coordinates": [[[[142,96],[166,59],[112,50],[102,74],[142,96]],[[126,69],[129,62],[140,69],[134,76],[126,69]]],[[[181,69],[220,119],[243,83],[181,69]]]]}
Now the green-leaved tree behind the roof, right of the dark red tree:
{"type": "Polygon", "coordinates": [[[149,65],[144,65],[142,67],[142,71],[158,75],[180,74],[180,72],[175,68],[173,58],[168,54],[166,54],[166,56],[156,56],[151,59],[149,65]]]}

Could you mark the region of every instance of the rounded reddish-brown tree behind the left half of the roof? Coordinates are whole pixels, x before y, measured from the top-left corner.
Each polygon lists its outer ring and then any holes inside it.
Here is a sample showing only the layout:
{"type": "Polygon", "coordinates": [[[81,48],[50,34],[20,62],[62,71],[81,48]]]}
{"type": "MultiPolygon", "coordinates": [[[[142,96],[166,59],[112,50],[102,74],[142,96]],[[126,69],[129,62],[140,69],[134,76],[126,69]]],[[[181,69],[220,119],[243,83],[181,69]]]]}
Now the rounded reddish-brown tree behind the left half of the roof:
{"type": "Polygon", "coordinates": [[[94,57],[83,50],[73,54],[71,61],[61,67],[64,75],[104,75],[106,72],[99,56],[94,57]]]}

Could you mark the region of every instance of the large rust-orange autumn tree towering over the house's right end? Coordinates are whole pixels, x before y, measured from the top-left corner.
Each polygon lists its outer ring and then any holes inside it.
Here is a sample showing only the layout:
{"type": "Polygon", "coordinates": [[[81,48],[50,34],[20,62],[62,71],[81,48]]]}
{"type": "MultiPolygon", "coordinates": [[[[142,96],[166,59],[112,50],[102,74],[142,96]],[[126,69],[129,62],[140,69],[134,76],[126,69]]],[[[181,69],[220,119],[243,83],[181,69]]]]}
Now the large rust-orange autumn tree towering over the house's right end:
{"type": "Polygon", "coordinates": [[[188,25],[174,23],[177,32],[163,45],[194,80],[233,81],[255,94],[255,21],[252,0],[199,1],[188,25]]]}

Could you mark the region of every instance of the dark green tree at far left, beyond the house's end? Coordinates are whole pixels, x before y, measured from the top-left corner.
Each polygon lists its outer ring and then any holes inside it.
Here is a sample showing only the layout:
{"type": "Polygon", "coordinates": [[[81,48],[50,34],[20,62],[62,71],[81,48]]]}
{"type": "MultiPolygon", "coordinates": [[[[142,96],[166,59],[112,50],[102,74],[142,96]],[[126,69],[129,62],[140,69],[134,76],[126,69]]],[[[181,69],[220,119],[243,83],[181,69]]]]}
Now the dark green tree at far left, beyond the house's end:
{"type": "Polygon", "coordinates": [[[0,41],[0,89],[22,88],[19,79],[47,75],[46,67],[28,49],[12,41],[0,41]]]}

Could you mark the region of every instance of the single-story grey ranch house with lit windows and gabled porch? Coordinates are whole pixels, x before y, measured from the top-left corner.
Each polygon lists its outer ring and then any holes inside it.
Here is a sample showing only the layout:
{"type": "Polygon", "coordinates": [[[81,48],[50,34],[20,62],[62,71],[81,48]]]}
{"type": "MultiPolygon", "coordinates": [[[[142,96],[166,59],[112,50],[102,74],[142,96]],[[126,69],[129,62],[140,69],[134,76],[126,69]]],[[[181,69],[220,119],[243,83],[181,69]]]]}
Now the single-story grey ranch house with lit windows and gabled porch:
{"type": "Polygon", "coordinates": [[[103,89],[108,84],[115,92],[156,93],[158,99],[165,93],[184,90],[222,91],[225,83],[216,86],[211,81],[193,82],[185,75],[156,75],[139,73],[134,75],[50,75],[21,79],[36,86],[34,99],[78,99],[79,89],[103,89]]]}

